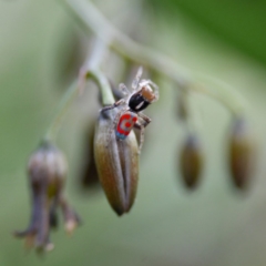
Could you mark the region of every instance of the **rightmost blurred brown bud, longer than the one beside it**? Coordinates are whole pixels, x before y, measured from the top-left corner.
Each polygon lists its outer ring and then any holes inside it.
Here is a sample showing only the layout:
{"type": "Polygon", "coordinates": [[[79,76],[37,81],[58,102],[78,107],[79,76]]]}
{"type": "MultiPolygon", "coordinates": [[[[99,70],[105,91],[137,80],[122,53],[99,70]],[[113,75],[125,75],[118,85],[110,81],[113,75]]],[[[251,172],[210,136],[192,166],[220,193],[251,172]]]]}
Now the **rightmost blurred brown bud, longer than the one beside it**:
{"type": "Polygon", "coordinates": [[[247,132],[247,124],[243,117],[233,122],[229,136],[229,170],[234,185],[246,188],[252,174],[254,145],[247,132]]]}

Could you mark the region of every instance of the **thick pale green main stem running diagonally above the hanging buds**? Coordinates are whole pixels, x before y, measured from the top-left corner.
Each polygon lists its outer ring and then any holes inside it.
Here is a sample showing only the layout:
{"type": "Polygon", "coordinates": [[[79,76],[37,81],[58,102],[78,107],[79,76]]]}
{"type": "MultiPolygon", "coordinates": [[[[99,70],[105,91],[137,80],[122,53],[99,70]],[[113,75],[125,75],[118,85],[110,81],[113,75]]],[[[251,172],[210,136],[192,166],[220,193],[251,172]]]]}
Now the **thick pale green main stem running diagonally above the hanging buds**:
{"type": "Polygon", "coordinates": [[[223,86],[212,78],[194,73],[177,64],[172,59],[130,39],[114,28],[110,21],[88,0],[64,0],[65,7],[74,14],[86,30],[92,30],[102,41],[125,59],[140,63],[174,81],[181,89],[206,94],[237,115],[245,110],[241,95],[232,94],[232,89],[223,86]],[[211,83],[212,88],[206,83],[211,83]]]}

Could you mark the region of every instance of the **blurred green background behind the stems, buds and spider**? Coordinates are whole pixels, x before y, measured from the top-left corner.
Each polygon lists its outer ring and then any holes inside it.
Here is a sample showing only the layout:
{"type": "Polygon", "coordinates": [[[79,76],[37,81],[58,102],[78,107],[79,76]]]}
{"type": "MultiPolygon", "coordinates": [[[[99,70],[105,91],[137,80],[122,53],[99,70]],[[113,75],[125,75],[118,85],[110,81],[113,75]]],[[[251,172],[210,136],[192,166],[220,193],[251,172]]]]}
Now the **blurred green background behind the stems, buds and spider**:
{"type": "MultiPolygon", "coordinates": [[[[146,112],[153,123],[141,156],[137,198],[129,215],[116,217],[101,190],[79,187],[84,132],[98,113],[96,90],[90,84],[71,108],[59,137],[70,164],[66,193],[83,224],[72,237],[61,226],[51,236],[55,249],[44,257],[25,252],[11,233],[29,221],[27,161],[76,76],[92,35],[82,32],[60,1],[0,1],[0,266],[265,266],[266,4],[96,3],[134,39],[229,83],[247,99],[257,146],[253,185],[248,193],[231,185],[227,110],[193,94],[205,167],[198,190],[186,192],[177,167],[185,131],[175,114],[176,88],[157,80],[161,99],[146,112]]],[[[112,62],[106,62],[106,71],[115,69],[112,62]]],[[[109,72],[115,84],[122,81],[109,72]]]]}

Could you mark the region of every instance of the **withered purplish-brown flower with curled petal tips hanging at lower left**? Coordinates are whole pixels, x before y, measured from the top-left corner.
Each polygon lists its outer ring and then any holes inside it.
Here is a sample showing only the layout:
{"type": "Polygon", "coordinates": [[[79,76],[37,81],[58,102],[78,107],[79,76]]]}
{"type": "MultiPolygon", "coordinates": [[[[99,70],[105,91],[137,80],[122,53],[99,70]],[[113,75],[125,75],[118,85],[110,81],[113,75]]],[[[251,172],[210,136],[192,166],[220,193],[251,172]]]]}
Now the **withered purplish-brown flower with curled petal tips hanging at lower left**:
{"type": "Polygon", "coordinates": [[[63,154],[53,144],[44,142],[32,154],[28,165],[29,184],[32,197],[30,225],[25,231],[16,232],[24,237],[28,247],[51,250],[51,227],[57,227],[57,208],[61,206],[65,229],[71,233],[79,224],[79,217],[63,196],[68,165],[63,154]]]}

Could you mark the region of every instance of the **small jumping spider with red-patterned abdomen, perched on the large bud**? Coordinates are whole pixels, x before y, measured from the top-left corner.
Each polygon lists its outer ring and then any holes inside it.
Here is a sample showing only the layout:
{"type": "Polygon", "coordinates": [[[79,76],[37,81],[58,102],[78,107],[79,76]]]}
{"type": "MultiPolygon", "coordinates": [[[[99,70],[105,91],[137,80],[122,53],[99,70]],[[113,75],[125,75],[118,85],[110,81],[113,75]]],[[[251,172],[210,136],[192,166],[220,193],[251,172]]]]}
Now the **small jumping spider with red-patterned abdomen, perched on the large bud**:
{"type": "Polygon", "coordinates": [[[129,90],[125,84],[120,84],[120,90],[125,95],[114,104],[105,106],[101,112],[120,106],[120,111],[113,121],[113,129],[117,140],[125,140],[133,127],[141,130],[139,153],[144,143],[144,129],[151,123],[151,119],[142,113],[150,104],[158,100],[158,86],[151,80],[141,80],[142,68],[137,70],[136,76],[132,82],[132,90],[129,90]]]}

